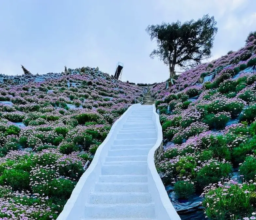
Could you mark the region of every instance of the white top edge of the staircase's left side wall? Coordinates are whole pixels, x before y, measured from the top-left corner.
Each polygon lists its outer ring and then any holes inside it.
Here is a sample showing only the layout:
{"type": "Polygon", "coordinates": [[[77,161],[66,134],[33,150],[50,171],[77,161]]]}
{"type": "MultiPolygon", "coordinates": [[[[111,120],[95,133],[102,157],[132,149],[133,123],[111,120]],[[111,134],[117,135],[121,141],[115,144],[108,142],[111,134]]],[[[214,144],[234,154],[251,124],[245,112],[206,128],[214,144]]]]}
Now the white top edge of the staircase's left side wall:
{"type": "MultiPolygon", "coordinates": [[[[86,181],[88,180],[88,177],[91,175],[93,176],[94,173],[94,169],[96,168],[96,165],[98,163],[101,163],[100,161],[100,156],[102,155],[102,150],[104,148],[104,146],[107,144],[107,142],[110,140],[113,132],[115,131],[115,127],[117,127],[118,124],[122,123],[121,121],[123,121],[123,119],[125,120],[125,116],[128,117],[128,113],[131,111],[131,109],[136,108],[137,106],[139,106],[140,104],[134,104],[131,105],[121,116],[120,118],[115,121],[115,123],[112,125],[107,137],[104,139],[104,141],[102,142],[102,144],[98,147],[93,160],[90,164],[90,166],[88,167],[88,169],[83,173],[83,175],[81,176],[81,178],[79,179],[79,181],[77,182],[75,188],[72,191],[72,194],[70,196],[70,198],[68,199],[68,201],[66,202],[63,211],[59,214],[59,216],[57,217],[56,220],[78,220],[79,218],[81,218],[82,216],[79,216],[79,213],[74,212],[72,209],[74,209],[74,205],[77,202],[77,199],[79,198],[80,193],[83,189],[83,186],[85,185],[86,181]],[[70,216],[72,215],[72,213],[76,213],[76,216],[70,216]],[[78,217],[79,216],[79,217],[78,217]]],[[[113,134],[113,136],[115,136],[115,134],[113,134]]],[[[94,182],[95,183],[95,182],[94,182]]],[[[85,202],[84,202],[85,204],[85,202]]],[[[83,204],[81,204],[81,208],[84,209],[83,204]]],[[[80,210],[79,210],[80,211],[80,210]]]]}

